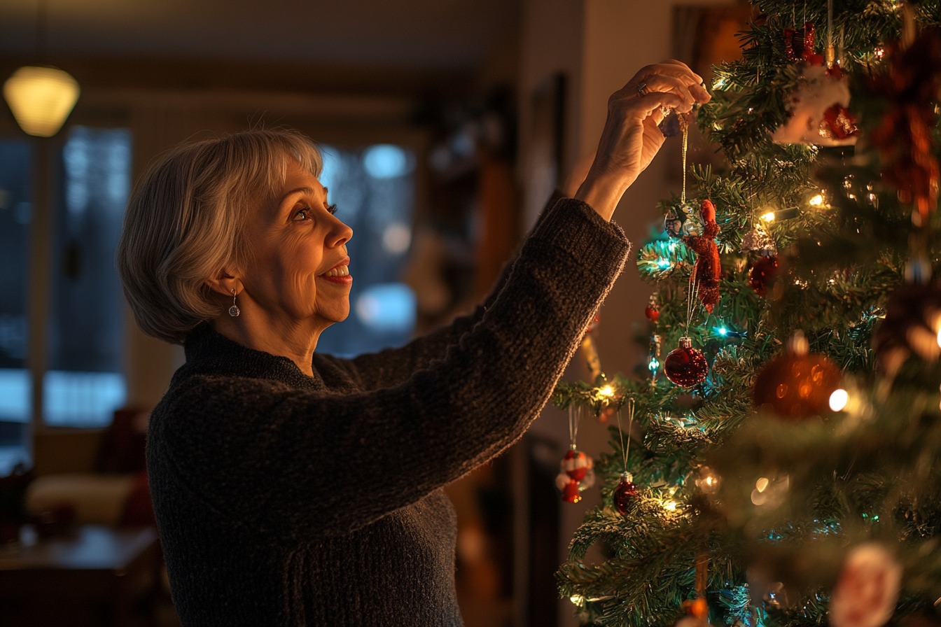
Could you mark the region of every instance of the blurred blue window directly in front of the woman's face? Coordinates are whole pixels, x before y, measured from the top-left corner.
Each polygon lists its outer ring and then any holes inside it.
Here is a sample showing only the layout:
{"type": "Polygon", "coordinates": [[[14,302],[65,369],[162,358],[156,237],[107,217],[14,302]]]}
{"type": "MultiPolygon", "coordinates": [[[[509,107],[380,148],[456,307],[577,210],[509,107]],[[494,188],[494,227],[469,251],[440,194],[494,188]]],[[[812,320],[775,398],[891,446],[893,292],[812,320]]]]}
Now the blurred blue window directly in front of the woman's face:
{"type": "Polygon", "coordinates": [[[352,356],[401,346],[415,329],[415,294],[399,281],[411,244],[415,157],[389,144],[321,150],[327,199],[353,228],[353,288],[349,318],[328,328],[317,350],[352,356]]]}

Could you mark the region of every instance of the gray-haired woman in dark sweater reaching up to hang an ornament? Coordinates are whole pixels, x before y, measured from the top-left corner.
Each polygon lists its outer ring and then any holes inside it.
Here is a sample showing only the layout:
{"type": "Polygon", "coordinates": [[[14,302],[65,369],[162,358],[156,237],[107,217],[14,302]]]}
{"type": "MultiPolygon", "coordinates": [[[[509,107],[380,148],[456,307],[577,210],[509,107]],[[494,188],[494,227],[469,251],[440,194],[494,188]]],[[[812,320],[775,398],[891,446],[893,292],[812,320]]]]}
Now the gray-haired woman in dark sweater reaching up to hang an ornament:
{"type": "Polygon", "coordinates": [[[609,101],[574,198],[553,196],[483,306],[401,349],[339,359],[343,212],[299,133],[171,150],[118,252],[140,328],[183,343],[147,464],[183,625],[460,625],[442,487],[548,400],[630,250],[614,207],[660,149],[662,107],[709,99],[670,61],[609,101]]]}

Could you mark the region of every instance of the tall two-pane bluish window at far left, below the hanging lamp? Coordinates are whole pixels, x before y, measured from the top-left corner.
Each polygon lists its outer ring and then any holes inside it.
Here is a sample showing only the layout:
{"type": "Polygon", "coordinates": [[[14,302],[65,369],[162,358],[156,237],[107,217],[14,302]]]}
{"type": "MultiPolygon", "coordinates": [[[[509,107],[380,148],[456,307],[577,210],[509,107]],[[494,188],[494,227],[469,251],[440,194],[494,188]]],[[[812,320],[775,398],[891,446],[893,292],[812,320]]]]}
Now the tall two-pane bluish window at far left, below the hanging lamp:
{"type": "Polygon", "coordinates": [[[114,255],[131,184],[131,134],[85,126],[64,134],[51,177],[49,259],[30,258],[33,213],[43,211],[31,200],[34,144],[0,139],[0,476],[28,459],[31,292],[49,296],[46,324],[32,330],[46,352],[42,424],[104,427],[126,398],[114,255]],[[32,262],[50,268],[48,275],[37,275],[32,262]]]}

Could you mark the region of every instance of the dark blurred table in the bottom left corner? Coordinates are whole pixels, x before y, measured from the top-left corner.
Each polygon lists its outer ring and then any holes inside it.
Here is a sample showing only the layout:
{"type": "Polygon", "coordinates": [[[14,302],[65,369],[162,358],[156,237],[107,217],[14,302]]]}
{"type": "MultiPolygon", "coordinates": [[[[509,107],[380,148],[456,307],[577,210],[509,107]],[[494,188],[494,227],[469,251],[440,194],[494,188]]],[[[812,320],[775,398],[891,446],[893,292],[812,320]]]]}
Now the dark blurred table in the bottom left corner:
{"type": "Polygon", "coordinates": [[[140,606],[159,585],[160,564],[153,527],[82,525],[67,537],[0,546],[0,624],[151,625],[140,606]]]}

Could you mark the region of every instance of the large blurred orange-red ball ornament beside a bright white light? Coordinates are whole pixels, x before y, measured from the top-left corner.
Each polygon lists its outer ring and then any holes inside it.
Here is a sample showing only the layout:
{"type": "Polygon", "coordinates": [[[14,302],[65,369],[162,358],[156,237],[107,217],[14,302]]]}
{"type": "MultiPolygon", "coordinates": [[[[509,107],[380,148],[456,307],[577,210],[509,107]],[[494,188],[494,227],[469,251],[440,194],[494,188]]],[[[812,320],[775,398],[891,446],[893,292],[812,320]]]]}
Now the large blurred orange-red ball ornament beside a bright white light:
{"type": "Polygon", "coordinates": [[[774,357],[758,372],[752,402],[791,420],[821,415],[829,409],[830,395],[839,387],[842,372],[821,354],[807,353],[807,340],[798,332],[788,353],[774,357]]]}

